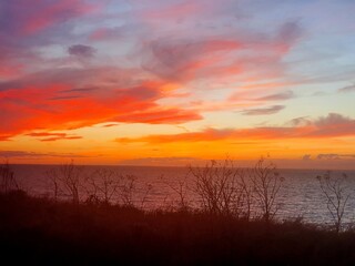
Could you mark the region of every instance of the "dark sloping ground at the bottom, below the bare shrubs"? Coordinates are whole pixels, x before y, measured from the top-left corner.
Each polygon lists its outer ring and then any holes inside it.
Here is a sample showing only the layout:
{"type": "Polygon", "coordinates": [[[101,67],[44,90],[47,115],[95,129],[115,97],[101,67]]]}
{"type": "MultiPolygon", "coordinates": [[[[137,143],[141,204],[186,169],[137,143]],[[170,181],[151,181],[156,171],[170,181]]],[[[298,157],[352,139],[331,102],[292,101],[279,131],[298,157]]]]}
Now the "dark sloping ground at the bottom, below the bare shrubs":
{"type": "Polygon", "coordinates": [[[21,191],[0,195],[0,243],[8,265],[355,265],[349,231],[55,203],[21,191]]]}

